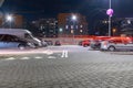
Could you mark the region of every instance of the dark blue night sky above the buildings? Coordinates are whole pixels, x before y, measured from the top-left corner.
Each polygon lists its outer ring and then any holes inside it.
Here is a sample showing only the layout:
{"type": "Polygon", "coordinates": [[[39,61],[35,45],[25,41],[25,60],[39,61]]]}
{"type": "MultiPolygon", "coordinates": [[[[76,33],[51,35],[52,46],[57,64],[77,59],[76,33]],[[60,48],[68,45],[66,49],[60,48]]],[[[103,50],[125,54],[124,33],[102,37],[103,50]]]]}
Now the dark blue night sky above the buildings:
{"type": "MultiPolygon", "coordinates": [[[[57,18],[61,12],[79,12],[86,19],[108,18],[109,0],[4,0],[1,11],[28,19],[57,18]]],[[[133,0],[112,0],[116,18],[133,18],[133,0]]]]}

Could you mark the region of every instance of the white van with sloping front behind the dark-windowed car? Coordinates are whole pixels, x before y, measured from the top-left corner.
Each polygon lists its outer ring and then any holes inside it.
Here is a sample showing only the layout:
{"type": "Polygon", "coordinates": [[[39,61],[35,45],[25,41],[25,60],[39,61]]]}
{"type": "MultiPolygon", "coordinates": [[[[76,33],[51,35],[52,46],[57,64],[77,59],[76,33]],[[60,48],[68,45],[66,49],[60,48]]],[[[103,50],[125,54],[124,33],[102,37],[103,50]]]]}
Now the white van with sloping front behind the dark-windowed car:
{"type": "Polygon", "coordinates": [[[0,29],[0,34],[10,34],[16,35],[20,38],[24,38],[30,43],[33,43],[35,46],[42,46],[41,41],[32,35],[28,30],[23,29],[0,29]]]}

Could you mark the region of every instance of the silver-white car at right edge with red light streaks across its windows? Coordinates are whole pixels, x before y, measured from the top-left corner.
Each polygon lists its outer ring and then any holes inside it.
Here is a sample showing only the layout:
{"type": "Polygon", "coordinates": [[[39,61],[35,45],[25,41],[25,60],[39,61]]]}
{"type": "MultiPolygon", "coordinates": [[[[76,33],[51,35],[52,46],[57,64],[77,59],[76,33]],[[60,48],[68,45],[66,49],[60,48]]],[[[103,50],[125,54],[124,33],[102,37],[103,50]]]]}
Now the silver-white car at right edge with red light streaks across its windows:
{"type": "Polygon", "coordinates": [[[133,51],[133,41],[130,37],[114,37],[101,43],[102,51],[133,51]]]}

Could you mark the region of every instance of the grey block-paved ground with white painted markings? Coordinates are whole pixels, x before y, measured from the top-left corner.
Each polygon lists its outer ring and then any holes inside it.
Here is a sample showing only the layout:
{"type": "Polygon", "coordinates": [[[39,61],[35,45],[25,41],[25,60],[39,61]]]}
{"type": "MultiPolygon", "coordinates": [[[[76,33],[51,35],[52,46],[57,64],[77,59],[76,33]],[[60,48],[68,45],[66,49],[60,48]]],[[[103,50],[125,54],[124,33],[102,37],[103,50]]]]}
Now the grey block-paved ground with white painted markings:
{"type": "Polygon", "coordinates": [[[133,88],[132,55],[62,45],[0,58],[0,88],[133,88]]]}

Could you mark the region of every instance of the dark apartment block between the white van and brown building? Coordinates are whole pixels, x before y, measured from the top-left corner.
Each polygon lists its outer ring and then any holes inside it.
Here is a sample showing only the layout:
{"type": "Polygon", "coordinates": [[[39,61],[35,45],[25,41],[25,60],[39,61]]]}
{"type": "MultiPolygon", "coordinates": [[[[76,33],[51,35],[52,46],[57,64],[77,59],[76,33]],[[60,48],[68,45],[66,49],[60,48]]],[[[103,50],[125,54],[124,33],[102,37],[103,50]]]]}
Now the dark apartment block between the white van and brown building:
{"type": "Polygon", "coordinates": [[[32,22],[43,37],[58,36],[58,21],[55,19],[40,19],[32,22]]]}

